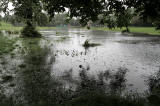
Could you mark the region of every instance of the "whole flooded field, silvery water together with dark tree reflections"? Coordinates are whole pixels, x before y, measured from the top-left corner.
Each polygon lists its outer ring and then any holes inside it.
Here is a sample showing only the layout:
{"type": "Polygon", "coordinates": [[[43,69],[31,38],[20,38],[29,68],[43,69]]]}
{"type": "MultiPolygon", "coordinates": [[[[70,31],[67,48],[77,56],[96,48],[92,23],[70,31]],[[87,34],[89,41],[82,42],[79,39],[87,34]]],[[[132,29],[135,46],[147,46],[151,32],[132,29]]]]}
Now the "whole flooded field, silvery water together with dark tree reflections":
{"type": "Polygon", "coordinates": [[[0,58],[1,93],[16,103],[59,104],[84,89],[144,93],[154,83],[148,82],[150,76],[159,71],[156,36],[86,29],[41,33],[42,38],[21,38],[12,54],[0,58]],[[86,40],[97,45],[84,47],[86,40]]]}

